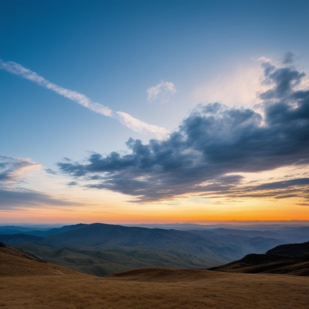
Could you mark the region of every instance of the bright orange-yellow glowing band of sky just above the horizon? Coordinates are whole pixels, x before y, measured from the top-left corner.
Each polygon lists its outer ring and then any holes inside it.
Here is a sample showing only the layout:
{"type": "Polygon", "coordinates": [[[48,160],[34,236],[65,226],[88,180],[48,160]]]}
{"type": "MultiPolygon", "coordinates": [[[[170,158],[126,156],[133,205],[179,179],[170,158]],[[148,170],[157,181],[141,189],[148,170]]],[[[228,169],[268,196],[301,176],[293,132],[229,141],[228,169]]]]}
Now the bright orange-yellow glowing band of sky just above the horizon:
{"type": "Polygon", "coordinates": [[[232,221],[309,220],[309,207],[296,203],[262,200],[226,204],[133,205],[115,208],[60,207],[24,208],[18,212],[2,211],[0,224],[5,223],[201,223],[232,221]]]}

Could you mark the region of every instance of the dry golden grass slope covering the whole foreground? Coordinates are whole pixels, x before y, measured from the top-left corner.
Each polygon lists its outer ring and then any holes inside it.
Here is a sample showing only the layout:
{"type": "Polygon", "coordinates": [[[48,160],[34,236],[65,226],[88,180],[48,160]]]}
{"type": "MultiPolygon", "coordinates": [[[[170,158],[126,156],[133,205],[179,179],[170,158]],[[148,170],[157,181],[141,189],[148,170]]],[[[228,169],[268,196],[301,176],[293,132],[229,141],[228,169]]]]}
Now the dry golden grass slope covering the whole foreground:
{"type": "Polygon", "coordinates": [[[95,277],[23,255],[0,251],[0,308],[309,308],[309,277],[170,268],[95,277]]]}

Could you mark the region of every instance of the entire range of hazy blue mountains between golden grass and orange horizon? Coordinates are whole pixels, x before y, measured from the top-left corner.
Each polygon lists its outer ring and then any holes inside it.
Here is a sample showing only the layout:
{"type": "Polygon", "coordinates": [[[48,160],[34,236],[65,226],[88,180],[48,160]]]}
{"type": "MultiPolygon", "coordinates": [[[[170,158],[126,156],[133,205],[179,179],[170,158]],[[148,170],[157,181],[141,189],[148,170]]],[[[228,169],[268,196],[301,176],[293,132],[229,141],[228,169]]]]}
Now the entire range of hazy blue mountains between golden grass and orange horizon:
{"type": "MultiPolygon", "coordinates": [[[[252,229],[252,227],[250,227],[252,229]]],[[[260,231],[149,229],[77,224],[50,230],[0,227],[0,241],[39,259],[104,276],[137,267],[210,268],[265,253],[280,244],[309,240],[309,227],[260,231]]]]}

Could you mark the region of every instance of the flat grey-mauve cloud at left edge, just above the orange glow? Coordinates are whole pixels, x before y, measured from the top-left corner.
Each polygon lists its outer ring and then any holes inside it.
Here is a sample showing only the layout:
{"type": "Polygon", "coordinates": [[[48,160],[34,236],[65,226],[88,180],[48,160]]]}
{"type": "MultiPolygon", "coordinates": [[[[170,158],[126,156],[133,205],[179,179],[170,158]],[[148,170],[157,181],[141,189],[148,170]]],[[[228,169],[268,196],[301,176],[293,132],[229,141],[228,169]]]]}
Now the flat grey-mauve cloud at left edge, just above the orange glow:
{"type": "Polygon", "coordinates": [[[78,206],[74,203],[62,199],[54,198],[48,194],[33,190],[7,190],[0,189],[0,209],[12,209],[21,207],[41,207],[50,206],[78,206]]]}

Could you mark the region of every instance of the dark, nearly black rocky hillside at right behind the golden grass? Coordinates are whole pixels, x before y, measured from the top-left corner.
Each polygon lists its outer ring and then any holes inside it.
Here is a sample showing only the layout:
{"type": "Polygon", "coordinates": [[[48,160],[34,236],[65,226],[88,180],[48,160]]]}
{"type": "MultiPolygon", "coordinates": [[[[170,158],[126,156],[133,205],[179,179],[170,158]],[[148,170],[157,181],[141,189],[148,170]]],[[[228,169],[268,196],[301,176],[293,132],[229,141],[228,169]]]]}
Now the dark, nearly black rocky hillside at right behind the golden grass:
{"type": "Polygon", "coordinates": [[[309,276],[309,241],[280,245],[265,254],[249,254],[239,261],[209,270],[309,276]]]}

